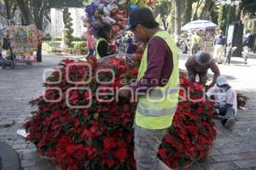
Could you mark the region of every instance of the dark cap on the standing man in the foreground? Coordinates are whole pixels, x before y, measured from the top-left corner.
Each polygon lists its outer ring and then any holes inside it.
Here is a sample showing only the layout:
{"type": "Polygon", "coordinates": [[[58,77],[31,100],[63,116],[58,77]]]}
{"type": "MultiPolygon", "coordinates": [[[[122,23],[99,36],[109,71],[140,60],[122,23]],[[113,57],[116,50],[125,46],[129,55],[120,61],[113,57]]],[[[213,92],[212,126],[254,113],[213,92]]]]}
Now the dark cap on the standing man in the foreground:
{"type": "Polygon", "coordinates": [[[152,11],[149,8],[136,8],[129,14],[128,26],[125,31],[131,30],[137,24],[146,24],[148,22],[156,22],[152,11]]]}

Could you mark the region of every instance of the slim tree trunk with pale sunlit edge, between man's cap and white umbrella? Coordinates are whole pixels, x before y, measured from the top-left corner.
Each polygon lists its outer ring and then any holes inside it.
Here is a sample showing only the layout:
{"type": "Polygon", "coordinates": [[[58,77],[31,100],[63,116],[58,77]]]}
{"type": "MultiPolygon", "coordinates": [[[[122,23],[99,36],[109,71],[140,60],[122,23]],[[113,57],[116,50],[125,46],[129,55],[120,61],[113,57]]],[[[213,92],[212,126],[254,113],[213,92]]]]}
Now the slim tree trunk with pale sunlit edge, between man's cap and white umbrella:
{"type": "Polygon", "coordinates": [[[175,39],[177,40],[181,34],[181,6],[183,0],[175,0],[175,39]]]}

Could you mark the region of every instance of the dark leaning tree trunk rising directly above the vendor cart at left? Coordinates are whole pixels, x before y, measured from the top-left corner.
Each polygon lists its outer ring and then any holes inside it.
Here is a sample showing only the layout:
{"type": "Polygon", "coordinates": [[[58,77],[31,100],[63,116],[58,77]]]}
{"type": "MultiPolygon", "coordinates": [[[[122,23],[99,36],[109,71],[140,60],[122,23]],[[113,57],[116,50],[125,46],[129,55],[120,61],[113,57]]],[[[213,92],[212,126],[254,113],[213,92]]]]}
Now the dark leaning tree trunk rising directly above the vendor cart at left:
{"type": "Polygon", "coordinates": [[[16,0],[19,8],[20,8],[20,12],[23,16],[23,25],[28,26],[33,24],[33,18],[32,18],[32,14],[30,12],[30,9],[28,8],[27,2],[25,2],[24,0],[16,0]]]}

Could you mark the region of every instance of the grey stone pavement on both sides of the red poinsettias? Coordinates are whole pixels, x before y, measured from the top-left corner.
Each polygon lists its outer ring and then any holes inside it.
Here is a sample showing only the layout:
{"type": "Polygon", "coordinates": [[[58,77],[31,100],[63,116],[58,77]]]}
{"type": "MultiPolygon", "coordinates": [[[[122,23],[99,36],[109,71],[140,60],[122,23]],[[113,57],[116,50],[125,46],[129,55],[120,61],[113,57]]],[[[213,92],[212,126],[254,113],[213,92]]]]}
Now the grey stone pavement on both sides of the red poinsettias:
{"type": "MultiPolygon", "coordinates": [[[[188,56],[182,55],[180,68],[188,56]]],[[[188,170],[256,169],[256,56],[242,65],[234,58],[230,65],[219,65],[230,84],[250,97],[248,111],[238,112],[238,122],[231,130],[224,129],[218,121],[218,137],[206,161],[188,170]]],[[[0,141],[10,144],[20,154],[22,170],[55,170],[49,159],[38,155],[35,146],[16,134],[33,110],[28,101],[43,94],[43,72],[53,68],[61,56],[44,55],[44,62],[32,66],[18,65],[15,70],[0,70],[0,141]]]]}

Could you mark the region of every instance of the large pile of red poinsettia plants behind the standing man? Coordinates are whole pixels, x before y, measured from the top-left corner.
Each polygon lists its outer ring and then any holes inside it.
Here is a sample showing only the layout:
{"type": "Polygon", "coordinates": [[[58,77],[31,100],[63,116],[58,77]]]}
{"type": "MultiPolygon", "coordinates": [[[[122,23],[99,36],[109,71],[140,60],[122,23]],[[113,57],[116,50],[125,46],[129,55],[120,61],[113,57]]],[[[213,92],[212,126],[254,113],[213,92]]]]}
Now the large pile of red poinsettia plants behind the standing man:
{"type": "MultiPolygon", "coordinates": [[[[101,62],[62,60],[47,78],[44,96],[31,102],[38,108],[25,124],[27,139],[69,170],[136,169],[132,126],[137,103],[118,97],[117,89],[137,77],[140,59],[137,54],[101,62]]],[[[201,85],[181,72],[180,86],[177,112],[159,150],[172,168],[206,158],[216,137],[212,103],[203,98],[201,85]]]]}

